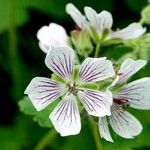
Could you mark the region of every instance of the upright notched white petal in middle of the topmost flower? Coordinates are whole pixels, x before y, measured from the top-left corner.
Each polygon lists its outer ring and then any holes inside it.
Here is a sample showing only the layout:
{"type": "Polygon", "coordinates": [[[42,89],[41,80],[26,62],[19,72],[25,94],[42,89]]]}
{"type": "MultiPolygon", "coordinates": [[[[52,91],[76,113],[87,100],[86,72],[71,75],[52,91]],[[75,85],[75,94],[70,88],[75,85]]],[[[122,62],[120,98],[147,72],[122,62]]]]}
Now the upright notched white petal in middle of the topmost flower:
{"type": "Polygon", "coordinates": [[[97,12],[91,7],[85,7],[84,11],[91,25],[94,26],[99,32],[112,27],[113,19],[112,15],[108,11],[104,10],[97,14],[97,12]]]}

